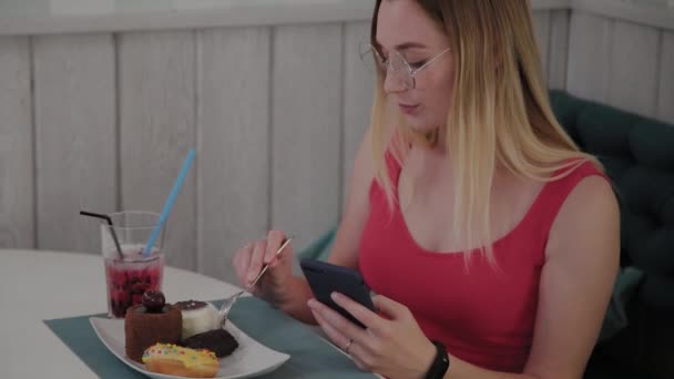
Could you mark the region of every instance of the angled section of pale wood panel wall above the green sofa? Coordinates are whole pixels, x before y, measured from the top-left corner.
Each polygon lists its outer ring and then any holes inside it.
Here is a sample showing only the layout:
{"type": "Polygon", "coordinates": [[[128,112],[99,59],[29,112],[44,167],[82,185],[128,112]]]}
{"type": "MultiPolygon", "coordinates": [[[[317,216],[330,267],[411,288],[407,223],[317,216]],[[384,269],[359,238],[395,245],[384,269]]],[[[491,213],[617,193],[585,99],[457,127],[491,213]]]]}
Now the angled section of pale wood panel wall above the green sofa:
{"type": "Polygon", "coordinates": [[[672,32],[573,12],[566,90],[674,123],[672,32]]]}

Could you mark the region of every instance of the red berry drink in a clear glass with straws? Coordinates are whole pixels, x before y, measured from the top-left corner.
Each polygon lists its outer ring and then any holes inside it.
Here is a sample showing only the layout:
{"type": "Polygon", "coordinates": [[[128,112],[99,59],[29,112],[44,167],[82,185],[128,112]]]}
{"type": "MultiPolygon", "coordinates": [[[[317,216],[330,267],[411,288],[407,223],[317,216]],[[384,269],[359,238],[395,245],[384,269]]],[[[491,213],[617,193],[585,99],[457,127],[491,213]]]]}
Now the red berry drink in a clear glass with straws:
{"type": "Polygon", "coordinates": [[[108,316],[124,318],[126,309],[141,304],[143,293],[162,290],[164,255],[157,249],[143,257],[143,246],[122,245],[124,259],[104,258],[108,283],[108,316]]]}

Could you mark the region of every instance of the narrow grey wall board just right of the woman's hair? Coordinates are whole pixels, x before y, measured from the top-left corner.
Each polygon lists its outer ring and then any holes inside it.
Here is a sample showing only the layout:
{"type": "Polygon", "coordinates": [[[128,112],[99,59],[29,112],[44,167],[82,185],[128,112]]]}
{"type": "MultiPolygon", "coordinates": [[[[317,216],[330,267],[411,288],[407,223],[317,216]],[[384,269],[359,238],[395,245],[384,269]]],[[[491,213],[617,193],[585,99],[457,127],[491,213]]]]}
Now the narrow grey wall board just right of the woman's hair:
{"type": "Polygon", "coordinates": [[[548,47],[548,86],[566,88],[569,60],[569,11],[555,10],[550,14],[550,45],[548,47]]]}

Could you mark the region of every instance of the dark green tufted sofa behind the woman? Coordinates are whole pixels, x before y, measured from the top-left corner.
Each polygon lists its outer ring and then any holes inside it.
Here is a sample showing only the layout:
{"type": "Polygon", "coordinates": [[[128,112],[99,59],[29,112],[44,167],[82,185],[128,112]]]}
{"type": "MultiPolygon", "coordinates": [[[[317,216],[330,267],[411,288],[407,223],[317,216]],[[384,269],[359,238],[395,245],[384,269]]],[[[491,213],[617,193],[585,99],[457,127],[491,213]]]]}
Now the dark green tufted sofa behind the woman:
{"type": "MultiPolygon", "coordinates": [[[[672,379],[674,125],[564,91],[550,100],[571,137],[604,164],[621,204],[622,268],[584,378],[672,379]]],[[[327,232],[299,255],[326,259],[334,237],[327,232]]]]}

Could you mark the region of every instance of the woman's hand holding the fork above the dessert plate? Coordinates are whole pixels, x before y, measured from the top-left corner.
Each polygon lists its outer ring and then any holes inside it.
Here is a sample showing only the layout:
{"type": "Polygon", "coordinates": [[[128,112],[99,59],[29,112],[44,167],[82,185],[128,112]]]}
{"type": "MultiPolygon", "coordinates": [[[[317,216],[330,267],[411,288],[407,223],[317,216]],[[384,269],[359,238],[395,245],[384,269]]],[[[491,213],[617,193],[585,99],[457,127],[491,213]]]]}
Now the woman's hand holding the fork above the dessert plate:
{"type": "Polygon", "coordinates": [[[293,280],[292,244],[288,244],[278,257],[276,256],[276,252],[285,238],[286,236],[283,232],[272,231],[266,239],[258,239],[246,244],[236,252],[233,258],[239,284],[253,295],[279,308],[288,301],[290,291],[287,289],[293,280]],[[269,265],[267,272],[257,281],[255,287],[249,288],[266,264],[269,265]]]}

